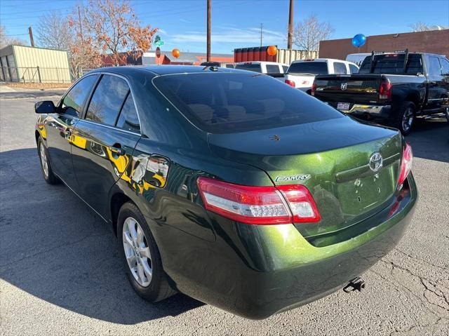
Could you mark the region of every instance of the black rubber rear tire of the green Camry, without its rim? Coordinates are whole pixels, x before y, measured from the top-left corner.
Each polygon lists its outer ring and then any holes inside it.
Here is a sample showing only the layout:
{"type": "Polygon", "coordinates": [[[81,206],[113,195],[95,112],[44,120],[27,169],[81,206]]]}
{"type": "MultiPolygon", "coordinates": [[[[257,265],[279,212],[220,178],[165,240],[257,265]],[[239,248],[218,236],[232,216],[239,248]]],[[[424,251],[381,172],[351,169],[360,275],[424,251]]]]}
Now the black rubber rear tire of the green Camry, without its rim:
{"type": "Polygon", "coordinates": [[[163,271],[161,255],[159,255],[159,249],[156,246],[152,232],[149,230],[149,226],[145,220],[145,217],[140,213],[140,210],[134,203],[128,202],[123,204],[119,211],[119,217],[117,219],[117,237],[119,238],[119,255],[123,261],[123,267],[126,269],[126,276],[130,281],[134,290],[140,297],[149,302],[158,302],[164,300],[177,292],[171,288],[168,283],[168,276],[163,271]],[[128,261],[126,260],[125,250],[123,247],[123,224],[127,218],[133,218],[138,222],[145,234],[145,243],[151,253],[151,269],[152,278],[149,281],[149,285],[143,286],[135,279],[133,271],[131,271],[128,261]]]}

